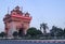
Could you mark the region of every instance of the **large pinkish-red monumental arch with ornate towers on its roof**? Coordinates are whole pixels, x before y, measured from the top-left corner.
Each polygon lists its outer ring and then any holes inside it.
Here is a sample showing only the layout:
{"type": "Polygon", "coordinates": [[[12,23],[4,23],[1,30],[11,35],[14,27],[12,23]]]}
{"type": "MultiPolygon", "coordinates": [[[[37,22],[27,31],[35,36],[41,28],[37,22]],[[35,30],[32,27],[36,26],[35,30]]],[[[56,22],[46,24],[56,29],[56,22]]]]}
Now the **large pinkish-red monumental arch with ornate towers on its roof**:
{"type": "Polygon", "coordinates": [[[21,33],[26,34],[31,20],[31,16],[29,15],[30,14],[28,12],[23,13],[20,6],[13,9],[10,14],[6,14],[3,18],[3,21],[8,36],[12,36],[14,31],[21,31],[21,33]]]}

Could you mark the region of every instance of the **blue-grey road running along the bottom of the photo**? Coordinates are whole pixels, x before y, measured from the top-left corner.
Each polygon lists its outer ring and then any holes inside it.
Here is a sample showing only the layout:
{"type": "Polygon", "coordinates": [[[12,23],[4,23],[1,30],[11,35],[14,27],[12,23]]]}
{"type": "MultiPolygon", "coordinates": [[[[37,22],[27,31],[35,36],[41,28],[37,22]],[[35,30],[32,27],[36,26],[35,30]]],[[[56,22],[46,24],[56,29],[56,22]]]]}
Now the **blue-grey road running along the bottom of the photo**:
{"type": "Polygon", "coordinates": [[[0,40],[0,44],[65,44],[65,40],[0,40]]]}

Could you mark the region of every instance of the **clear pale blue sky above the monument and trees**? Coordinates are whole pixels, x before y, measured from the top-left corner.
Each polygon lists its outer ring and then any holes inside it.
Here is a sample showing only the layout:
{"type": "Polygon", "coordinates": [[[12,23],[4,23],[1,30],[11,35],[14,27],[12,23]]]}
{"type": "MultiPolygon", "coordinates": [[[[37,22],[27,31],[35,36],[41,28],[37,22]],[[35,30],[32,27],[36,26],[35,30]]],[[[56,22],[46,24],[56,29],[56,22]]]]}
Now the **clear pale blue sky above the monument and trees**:
{"type": "Polygon", "coordinates": [[[16,5],[32,16],[30,27],[39,29],[41,23],[65,28],[65,0],[0,0],[0,31],[4,30],[3,17],[16,5]]]}

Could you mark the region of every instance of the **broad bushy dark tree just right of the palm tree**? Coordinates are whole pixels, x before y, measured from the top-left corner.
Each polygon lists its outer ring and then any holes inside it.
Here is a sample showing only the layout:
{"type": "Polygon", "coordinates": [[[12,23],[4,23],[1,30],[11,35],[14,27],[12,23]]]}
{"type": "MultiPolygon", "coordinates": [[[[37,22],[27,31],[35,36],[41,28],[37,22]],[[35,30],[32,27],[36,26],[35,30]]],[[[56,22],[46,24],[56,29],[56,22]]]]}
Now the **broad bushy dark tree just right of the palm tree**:
{"type": "Polygon", "coordinates": [[[50,33],[54,38],[62,36],[63,35],[63,29],[53,26],[52,29],[50,30],[50,33]]]}

